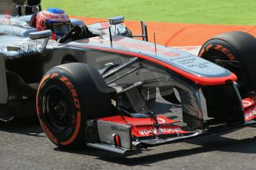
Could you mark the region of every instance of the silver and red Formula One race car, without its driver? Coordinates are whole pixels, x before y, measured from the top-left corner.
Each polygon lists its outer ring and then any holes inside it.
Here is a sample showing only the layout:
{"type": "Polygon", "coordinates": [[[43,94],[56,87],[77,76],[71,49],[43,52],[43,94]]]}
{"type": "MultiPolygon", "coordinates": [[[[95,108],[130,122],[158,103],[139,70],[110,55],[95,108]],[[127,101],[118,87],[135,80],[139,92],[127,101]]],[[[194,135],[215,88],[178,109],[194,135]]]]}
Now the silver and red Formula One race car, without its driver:
{"type": "Polygon", "coordinates": [[[1,120],[37,111],[57,146],[120,154],[256,124],[252,35],[218,35],[198,57],[147,42],[143,22],[145,41],[134,39],[117,17],[89,25],[92,38],[61,44],[30,25],[40,2],[3,2],[12,13],[0,24],[1,120]],[[175,107],[180,115],[160,115],[175,107]]]}

